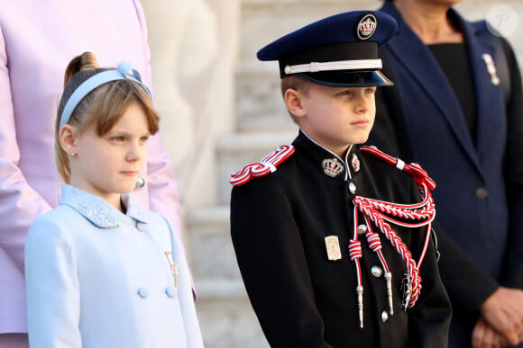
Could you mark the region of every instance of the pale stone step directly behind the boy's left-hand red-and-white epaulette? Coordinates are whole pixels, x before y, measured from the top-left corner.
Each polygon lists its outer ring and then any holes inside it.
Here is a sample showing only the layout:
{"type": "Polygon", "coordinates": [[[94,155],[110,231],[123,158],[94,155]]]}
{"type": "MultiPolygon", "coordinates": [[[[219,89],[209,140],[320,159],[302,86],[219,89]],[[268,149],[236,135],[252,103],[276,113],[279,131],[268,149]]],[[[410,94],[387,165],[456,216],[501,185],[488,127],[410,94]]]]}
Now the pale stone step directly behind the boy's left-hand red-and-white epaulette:
{"type": "Polygon", "coordinates": [[[219,203],[228,204],[231,200],[231,174],[260,161],[274,148],[290,144],[297,135],[295,126],[292,130],[242,132],[219,138],[216,143],[219,203]]]}

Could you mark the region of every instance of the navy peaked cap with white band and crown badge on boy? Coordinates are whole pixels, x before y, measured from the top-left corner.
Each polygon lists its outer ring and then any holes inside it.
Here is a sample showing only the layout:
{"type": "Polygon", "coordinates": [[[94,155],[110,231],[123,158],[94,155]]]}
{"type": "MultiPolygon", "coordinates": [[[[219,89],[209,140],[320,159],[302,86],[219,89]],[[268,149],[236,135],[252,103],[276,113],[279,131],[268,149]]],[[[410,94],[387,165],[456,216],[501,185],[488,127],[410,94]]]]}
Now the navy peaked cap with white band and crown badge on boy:
{"type": "Polygon", "coordinates": [[[398,23],[380,11],[351,11],[292,31],[258,51],[260,60],[278,60],[280,77],[299,76],[317,85],[393,85],[384,76],[378,47],[398,23]]]}

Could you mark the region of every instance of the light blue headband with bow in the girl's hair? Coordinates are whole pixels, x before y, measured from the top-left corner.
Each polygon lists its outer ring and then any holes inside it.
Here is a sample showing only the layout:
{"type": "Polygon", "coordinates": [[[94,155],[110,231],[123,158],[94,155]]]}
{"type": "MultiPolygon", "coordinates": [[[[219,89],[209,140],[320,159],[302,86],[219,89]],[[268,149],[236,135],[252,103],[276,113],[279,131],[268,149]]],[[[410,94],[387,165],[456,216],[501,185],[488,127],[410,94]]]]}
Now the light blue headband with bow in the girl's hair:
{"type": "Polygon", "coordinates": [[[142,83],[142,77],[138,70],[134,69],[133,65],[129,62],[121,62],[115,70],[106,70],[96,74],[95,76],[91,76],[78,86],[75,92],[73,92],[69,97],[68,103],[66,103],[63,112],[61,113],[60,129],[69,121],[71,114],[77,108],[78,103],[80,103],[89,92],[100,85],[116,80],[133,80],[137,82],[142,85],[145,92],[149,94],[149,97],[151,98],[151,91],[149,91],[149,88],[142,83]]]}

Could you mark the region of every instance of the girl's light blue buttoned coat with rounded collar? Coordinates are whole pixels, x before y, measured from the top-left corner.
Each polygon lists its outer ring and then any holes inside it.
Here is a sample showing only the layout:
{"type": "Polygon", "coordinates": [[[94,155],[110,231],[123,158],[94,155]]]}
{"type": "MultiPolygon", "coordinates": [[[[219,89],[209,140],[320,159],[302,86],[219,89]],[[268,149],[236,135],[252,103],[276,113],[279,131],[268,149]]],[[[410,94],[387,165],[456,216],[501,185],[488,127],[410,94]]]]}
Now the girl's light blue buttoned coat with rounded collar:
{"type": "Polygon", "coordinates": [[[64,185],[25,248],[32,348],[202,347],[188,263],[166,219],[64,185]],[[175,287],[171,251],[179,264],[175,287]]]}

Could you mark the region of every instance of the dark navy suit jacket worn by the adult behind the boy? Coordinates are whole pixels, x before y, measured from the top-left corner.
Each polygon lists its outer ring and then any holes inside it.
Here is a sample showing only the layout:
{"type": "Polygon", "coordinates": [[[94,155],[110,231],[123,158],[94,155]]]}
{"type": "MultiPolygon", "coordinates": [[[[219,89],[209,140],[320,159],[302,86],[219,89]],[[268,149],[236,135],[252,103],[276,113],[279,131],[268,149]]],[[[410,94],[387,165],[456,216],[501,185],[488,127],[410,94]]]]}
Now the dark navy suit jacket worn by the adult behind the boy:
{"type": "Polygon", "coordinates": [[[454,10],[448,13],[463,29],[473,72],[474,141],[453,87],[431,51],[392,3],[386,2],[381,11],[399,23],[396,35],[381,47],[383,71],[396,85],[377,95],[376,123],[368,143],[423,165],[436,181],[440,272],[454,308],[450,346],[463,348],[470,346],[484,299],[500,285],[523,286],[518,65],[508,43],[501,40],[510,72],[506,101],[482,58],[485,53],[495,61],[500,58],[492,39],[485,39],[479,27],[454,10]]]}

